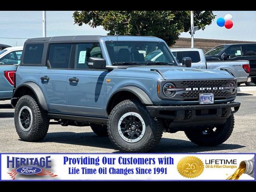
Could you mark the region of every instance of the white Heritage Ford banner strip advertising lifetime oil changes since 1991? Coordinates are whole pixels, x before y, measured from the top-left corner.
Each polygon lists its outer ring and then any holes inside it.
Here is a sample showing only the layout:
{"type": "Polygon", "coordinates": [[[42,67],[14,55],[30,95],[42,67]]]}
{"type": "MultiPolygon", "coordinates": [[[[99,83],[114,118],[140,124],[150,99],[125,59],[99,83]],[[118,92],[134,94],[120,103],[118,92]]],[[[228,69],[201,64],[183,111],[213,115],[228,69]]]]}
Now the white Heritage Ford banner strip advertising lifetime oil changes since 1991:
{"type": "Polygon", "coordinates": [[[0,154],[0,180],[250,180],[255,154],[0,154]]]}

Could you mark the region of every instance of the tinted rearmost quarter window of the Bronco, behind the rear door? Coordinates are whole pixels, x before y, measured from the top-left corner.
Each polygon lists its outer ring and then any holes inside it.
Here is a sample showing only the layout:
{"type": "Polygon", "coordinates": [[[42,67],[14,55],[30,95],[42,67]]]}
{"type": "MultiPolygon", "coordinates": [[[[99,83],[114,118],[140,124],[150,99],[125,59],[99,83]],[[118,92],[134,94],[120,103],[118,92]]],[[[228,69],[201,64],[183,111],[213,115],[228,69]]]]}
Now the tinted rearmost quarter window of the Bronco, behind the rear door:
{"type": "Polygon", "coordinates": [[[27,44],[24,52],[24,64],[41,64],[44,44],[27,44]]]}

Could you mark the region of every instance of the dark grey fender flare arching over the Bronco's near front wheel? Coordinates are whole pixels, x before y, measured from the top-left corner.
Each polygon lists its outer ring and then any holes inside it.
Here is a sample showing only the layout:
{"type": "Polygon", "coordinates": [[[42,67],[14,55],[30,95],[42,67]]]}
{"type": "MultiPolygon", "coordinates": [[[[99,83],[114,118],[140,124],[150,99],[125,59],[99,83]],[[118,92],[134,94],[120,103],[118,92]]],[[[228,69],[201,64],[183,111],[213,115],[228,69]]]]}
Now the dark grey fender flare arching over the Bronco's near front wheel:
{"type": "Polygon", "coordinates": [[[140,88],[138,87],[135,87],[135,86],[126,86],[126,87],[123,87],[123,88],[120,88],[118,90],[116,90],[114,93],[112,93],[112,95],[110,96],[109,100],[108,100],[108,103],[107,103],[107,107],[108,107],[108,104],[111,100],[111,98],[118,92],[121,92],[121,91],[128,91],[128,92],[131,92],[133,93],[134,95],[136,95],[139,100],[143,103],[143,104],[146,104],[146,105],[153,105],[153,102],[151,101],[151,99],[149,98],[149,96],[140,88]]]}

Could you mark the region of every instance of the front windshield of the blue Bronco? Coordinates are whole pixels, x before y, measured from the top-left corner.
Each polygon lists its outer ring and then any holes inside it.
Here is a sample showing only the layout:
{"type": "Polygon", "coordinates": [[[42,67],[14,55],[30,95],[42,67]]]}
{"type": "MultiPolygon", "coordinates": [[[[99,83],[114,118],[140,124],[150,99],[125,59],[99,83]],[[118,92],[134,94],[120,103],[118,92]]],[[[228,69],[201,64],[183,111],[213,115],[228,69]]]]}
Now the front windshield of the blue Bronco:
{"type": "Polygon", "coordinates": [[[106,41],[112,64],[170,64],[177,65],[164,42],[106,41]]]}

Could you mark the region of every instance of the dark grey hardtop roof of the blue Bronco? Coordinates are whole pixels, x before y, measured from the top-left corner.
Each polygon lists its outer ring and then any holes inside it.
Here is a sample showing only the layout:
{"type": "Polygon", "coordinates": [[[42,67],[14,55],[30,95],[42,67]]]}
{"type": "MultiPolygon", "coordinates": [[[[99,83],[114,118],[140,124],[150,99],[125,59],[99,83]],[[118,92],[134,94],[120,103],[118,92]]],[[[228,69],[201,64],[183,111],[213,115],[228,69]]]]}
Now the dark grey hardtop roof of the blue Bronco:
{"type": "MultiPolygon", "coordinates": [[[[26,42],[34,41],[47,41],[47,42],[58,42],[58,41],[98,41],[102,37],[116,37],[107,35],[77,35],[77,36],[54,36],[54,37],[40,37],[40,38],[30,38],[26,42]]],[[[118,37],[145,37],[145,36],[118,36],[118,37]]],[[[152,36],[151,36],[152,37],[152,36]]]]}

